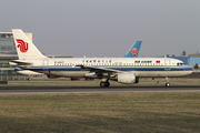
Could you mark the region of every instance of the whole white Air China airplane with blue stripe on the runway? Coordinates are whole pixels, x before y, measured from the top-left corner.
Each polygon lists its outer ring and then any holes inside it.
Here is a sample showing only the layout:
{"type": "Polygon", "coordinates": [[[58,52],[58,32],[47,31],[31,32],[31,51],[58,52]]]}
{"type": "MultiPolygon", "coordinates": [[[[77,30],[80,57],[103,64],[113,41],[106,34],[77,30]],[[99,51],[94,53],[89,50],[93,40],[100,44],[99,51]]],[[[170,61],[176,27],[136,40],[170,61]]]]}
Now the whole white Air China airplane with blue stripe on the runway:
{"type": "Polygon", "coordinates": [[[109,86],[110,80],[119,83],[139,83],[139,78],[169,78],[192,73],[192,68],[170,58],[47,58],[27,38],[21,29],[12,29],[19,60],[9,62],[23,70],[49,76],[100,79],[100,86],[109,86]]]}

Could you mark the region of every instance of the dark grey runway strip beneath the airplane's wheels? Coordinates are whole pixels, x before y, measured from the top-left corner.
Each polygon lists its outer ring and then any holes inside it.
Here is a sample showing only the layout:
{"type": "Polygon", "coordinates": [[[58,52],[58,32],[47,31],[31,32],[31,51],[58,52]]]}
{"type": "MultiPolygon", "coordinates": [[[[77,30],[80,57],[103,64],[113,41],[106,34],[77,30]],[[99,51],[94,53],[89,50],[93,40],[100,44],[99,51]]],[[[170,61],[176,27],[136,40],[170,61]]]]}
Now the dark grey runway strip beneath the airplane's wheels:
{"type": "Polygon", "coordinates": [[[97,93],[97,92],[186,92],[200,86],[0,86],[0,94],[97,93]]]}

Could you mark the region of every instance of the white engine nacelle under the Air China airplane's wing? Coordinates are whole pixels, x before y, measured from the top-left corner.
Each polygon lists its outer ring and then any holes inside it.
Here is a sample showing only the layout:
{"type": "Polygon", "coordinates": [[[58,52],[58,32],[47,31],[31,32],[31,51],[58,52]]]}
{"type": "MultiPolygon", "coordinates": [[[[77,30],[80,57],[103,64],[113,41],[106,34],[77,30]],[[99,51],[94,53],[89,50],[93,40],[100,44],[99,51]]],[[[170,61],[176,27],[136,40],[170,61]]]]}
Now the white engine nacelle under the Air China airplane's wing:
{"type": "Polygon", "coordinates": [[[118,82],[119,83],[138,83],[139,78],[136,78],[134,73],[119,73],[118,82]]]}

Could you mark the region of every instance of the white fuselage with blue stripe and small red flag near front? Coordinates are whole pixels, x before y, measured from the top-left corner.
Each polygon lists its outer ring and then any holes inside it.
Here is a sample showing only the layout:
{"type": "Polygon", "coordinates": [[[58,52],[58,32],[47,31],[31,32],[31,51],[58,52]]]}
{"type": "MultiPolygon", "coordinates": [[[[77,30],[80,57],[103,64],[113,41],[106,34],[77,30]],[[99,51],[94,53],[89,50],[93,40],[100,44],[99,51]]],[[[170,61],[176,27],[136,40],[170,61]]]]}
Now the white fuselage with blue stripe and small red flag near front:
{"type": "MultiPolygon", "coordinates": [[[[170,58],[46,58],[28,59],[32,65],[27,70],[66,78],[86,78],[91,69],[110,71],[110,75],[121,72],[134,73],[138,78],[182,76],[192,73],[192,69],[182,65],[182,61],[170,58]]],[[[98,71],[94,71],[98,72],[98,71]]]]}

